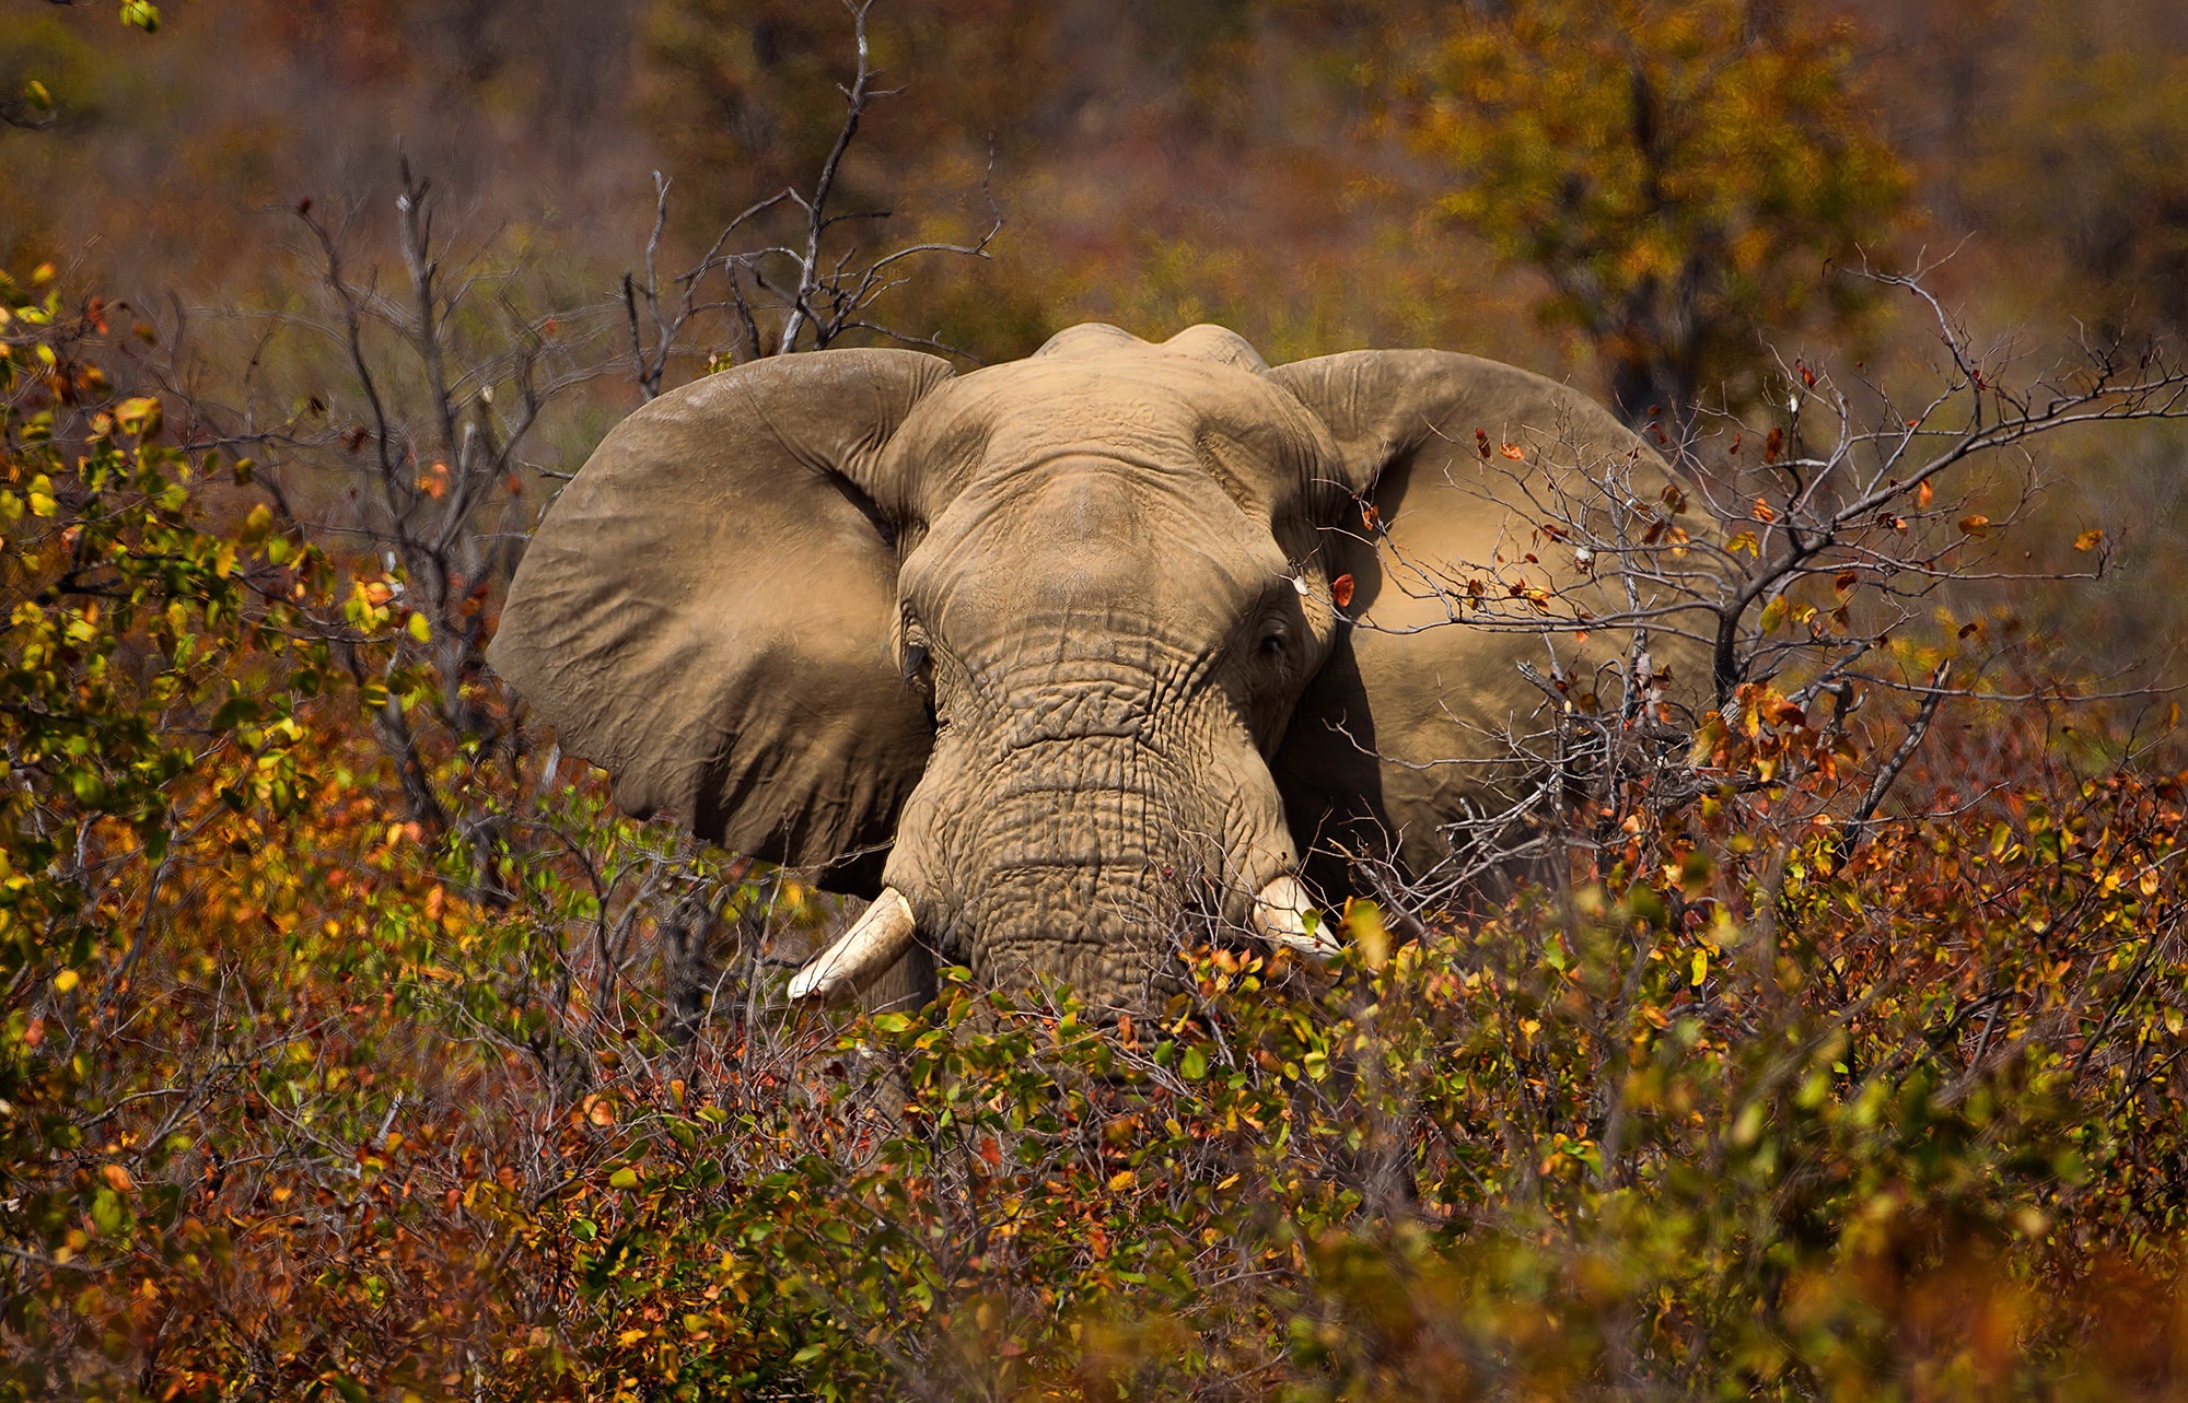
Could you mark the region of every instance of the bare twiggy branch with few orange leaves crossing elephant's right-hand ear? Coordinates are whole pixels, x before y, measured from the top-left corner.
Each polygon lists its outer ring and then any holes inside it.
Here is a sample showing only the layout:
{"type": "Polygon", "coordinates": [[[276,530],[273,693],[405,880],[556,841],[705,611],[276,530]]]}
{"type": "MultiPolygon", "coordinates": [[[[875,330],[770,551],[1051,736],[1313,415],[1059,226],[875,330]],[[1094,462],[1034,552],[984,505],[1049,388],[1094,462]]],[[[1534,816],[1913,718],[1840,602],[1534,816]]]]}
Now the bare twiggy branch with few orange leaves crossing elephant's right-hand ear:
{"type": "MultiPolygon", "coordinates": [[[[1711,791],[1746,793],[1781,780],[1711,771],[1700,754],[1707,745],[1687,754],[1698,723],[1750,723],[1766,695],[1783,697],[1801,723],[1805,708],[1829,697],[1816,732],[1825,750],[1844,743],[1866,691],[1919,697],[1869,767],[1844,776],[1834,820],[1844,824],[1842,857],[1947,699],[2114,695],[2096,686],[2002,691],[1987,680],[1982,658],[1965,656],[1969,667],[1947,658],[1923,662],[1928,677],[1906,675],[1906,649],[1930,638],[1930,608],[1947,590],[2100,579],[2111,551],[2100,529],[2074,542],[2087,564],[2072,568],[1998,568],[1995,542],[2028,520],[2046,485],[2039,450],[2050,435],[2188,420],[2188,369],[2162,345],[2129,352],[2114,343],[2083,345],[2079,358],[2015,378],[2013,347],[1978,347],[1919,273],[1875,278],[1910,295],[1936,326],[1941,358],[1917,404],[1901,404],[1866,376],[1840,387],[1825,369],[1781,363],[1783,417],[1713,415],[1707,433],[1680,446],[1661,492],[1637,485],[1632,459],[1578,461],[1567,439],[1567,457],[1547,476],[1521,468],[1494,474],[1501,481],[1486,509],[1508,527],[1492,559],[1427,559],[1374,540],[1383,588],[1440,614],[1389,632],[1462,625],[1534,634],[1547,664],[1518,664],[1543,706],[1529,723],[1483,736],[1486,758],[1378,756],[1409,769],[1475,765],[1483,791],[1503,795],[1451,826],[1451,859],[1411,887],[1413,911],[1464,907],[1486,879],[1543,870],[1553,852],[1602,850],[1617,837],[1604,826],[1634,811],[1663,815],[1711,791]],[[1549,562],[1551,551],[1573,568],[1549,562]],[[1613,575],[1621,608],[1602,612],[1599,583],[1613,575]],[[1588,588],[1593,614],[1580,603],[1588,588]],[[1632,645],[1623,660],[1575,675],[1571,645],[1591,632],[1630,634],[1632,645]],[[1702,660],[1707,686],[1665,673],[1672,656],[1702,660]],[[1960,675],[1947,684],[1954,667],[1960,675]],[[1678,697],[1696,712],[1674,715],[1678,697]]],[[[1490,461],[1488,444],[1481,457],[1490,461]]],[[[1470,490],[1457,474],[1451,481],[1470,490]]],[[[1354,627],[1381,625],[1370,610],[1354,627]]],[[[1969,638],[1963,653],[1985,647],[1980,621],[1958,642],[1969,638]]],[[[1354,872],[1363,857],[1348,854],[1354,872]]]]}

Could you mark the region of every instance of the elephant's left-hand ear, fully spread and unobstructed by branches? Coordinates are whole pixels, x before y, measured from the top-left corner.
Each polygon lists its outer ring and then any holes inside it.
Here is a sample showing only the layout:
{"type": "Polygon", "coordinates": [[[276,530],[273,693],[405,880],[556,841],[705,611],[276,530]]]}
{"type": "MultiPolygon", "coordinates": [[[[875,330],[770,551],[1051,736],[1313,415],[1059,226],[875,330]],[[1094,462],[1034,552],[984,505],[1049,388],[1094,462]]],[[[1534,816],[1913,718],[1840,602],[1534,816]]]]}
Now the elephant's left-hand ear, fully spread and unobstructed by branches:
{"type": "MultiPolygon", "coordinates": [[[[891,651],[888,439],[945,361],[831,350],[615,426],[525,551],[488,651],[615,802],[871,887],[932,726],[891,651]]],[[[834,879],[834,881],[831,881],[834,879]]]]}

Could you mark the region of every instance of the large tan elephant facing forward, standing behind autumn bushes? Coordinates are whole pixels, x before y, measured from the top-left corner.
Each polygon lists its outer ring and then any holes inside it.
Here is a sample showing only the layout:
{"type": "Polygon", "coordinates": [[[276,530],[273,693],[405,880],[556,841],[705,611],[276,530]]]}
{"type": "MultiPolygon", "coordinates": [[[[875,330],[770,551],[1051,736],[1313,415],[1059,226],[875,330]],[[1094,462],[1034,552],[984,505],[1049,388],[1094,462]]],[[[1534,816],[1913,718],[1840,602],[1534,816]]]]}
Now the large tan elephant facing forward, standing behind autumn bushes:
{"type": "Polygon", "coordinates": [[[1431,868],[1510,791],[1497,736],[1593,677],[1669,717],[1707,664],[1628,586],[1678,492],[1591,398],[1455,352],[805,352],[617,424],[488,660],[624,811],[873,898],[792,999],[928,957],[1131,1010],[1195,913],[1335,953],[1308,850],[1431,868]]]}

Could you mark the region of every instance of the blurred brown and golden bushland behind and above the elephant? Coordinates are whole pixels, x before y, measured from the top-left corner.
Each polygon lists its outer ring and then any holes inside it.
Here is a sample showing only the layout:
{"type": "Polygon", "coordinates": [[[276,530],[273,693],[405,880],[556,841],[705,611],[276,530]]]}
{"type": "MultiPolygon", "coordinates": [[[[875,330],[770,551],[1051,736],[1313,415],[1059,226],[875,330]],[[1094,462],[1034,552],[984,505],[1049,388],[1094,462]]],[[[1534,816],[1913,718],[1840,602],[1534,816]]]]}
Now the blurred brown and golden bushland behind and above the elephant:
{"type": "MultiPolygon", "coordinates": [[[[810,188],[856,70],[851,13],[816,0],[162,20],[0,20],[7,267],[125,302],[147,363],[203,402],[295,413],[339,378],[304,326],[326,269],[298,210],[392,286],[405,155],[442,258],[560,313],[593,367],[527,441],[549,468],[639,402],[621,278],[656,173],[665,280],[753,201],[810,188]]],[[[1934,315],[1862,269],[1925,271],[2024,376],[2188,321],[2188,11],[2166,0],[882,0],[871,55],[891,96],[834,210],[891,216],[834,238],[871,258],[1000,214],[987,258],[908,260],[871,315],[967,361],[1083,319],[1221,321],[1271,363],[1440,345],[1687,424],[1753,420],[1796,363],[1919,389],[1934,315]]],[[[792,236],[785,214],[729,247],[792,236]]],[[[726,317],[694,321],[667,382],[709,354],[742,354],[726,317]]],[[[2103,675],[2162,669],[2184,621],[2179,452],[2107,431],[2037,465],[2048,535],[2094,524],[2116,553],[2072,614],[2044,590],[2017,608],[2070,618],[2103,675]]]]}

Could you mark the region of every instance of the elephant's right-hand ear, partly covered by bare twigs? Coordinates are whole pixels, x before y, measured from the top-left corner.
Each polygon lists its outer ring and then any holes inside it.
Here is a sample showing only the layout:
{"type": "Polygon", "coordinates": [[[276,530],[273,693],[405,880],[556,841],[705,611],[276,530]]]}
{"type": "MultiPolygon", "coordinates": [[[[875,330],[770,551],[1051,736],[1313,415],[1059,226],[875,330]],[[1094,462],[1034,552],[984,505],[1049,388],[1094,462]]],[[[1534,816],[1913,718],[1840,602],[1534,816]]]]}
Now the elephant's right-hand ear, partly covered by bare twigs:
{"type": "MultiPolygon", "coordinates": [[[[1330,575],[1354,579],[1354,625],[1271,765],[1302,844],[1387,846],[1427,872],[1453,822],[1501,811],[1540,771],[1527,756],[1564,699],[1617,712],[1630,695],[1634,629],[1586,621],[1630,614],[1619,570],[1634,557],[1580,557],[1573,524],[1639,538],[1680,494],[1604,406],[1512,365],[1346,352],[1269,376],[1328,426],[1354,494],[1324,531],[1330,575]]],[[[1663,673],[1678,695],[1707,664],[1676,618],[1656,623],[1641,688],[1663,710],[1663,673]]]]}

